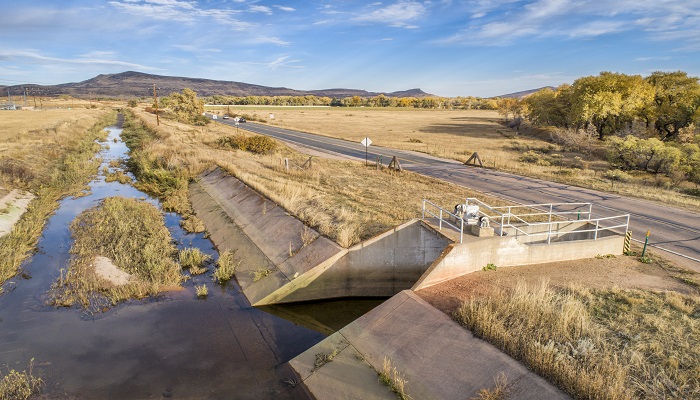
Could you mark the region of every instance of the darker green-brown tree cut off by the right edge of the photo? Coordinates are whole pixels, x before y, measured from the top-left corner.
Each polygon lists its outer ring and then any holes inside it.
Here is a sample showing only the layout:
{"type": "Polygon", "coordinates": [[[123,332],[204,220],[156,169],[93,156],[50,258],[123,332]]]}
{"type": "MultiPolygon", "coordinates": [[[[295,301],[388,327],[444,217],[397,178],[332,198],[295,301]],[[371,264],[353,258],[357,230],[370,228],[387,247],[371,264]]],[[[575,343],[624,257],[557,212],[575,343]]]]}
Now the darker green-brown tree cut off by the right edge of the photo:
{"type": "Polygon", "coordinates": [[[652,115],[663,140],[675,139],[700,112],[700,83],[687,73],[654,72],[646,78],[655,90],[652,115]]]}

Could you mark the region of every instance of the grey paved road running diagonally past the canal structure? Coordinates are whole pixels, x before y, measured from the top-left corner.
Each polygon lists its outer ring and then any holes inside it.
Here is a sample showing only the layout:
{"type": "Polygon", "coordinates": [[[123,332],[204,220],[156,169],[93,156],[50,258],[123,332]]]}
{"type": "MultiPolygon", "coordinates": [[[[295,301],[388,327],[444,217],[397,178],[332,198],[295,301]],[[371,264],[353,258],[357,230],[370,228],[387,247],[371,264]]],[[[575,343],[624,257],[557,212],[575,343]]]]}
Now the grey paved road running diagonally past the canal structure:
{"type": "MultiPolygon", "coordinates": [[[[234,125],[231,120],[219,120],[219,122],[234,125]]],[[[365,147],[360,143],[252,122],[240,124],[239,127],[318,151],[365,158],[365,147]]],[[[631,214],[630,230],[633,231],[633,237],[637,241],[643,240],[646,231],[649,230],[651,246],[664,250],[668,258],[682,262],[683,265],[700,272],[700,214],[698,213],[612,193],[490,169],[468,167],[454,160],[440,159],[427,154],[369,147],[370,161],[376,160],[379,155],[383,156],[384,164],[387,164],[392,156],[396,156],[402,166],[409,171],[440,178],[516,203],[591,202],[594,203],[593,212],[600,216],[629,213],[631,214]]]]}

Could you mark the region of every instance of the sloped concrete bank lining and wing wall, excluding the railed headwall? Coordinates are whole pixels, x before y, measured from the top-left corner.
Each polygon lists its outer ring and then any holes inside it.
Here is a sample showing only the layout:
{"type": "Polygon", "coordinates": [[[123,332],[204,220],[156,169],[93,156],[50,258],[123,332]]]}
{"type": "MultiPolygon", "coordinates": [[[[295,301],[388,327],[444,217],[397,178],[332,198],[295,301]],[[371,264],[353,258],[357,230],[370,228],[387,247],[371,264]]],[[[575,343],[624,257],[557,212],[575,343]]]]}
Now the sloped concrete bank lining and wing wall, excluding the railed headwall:
{"type": "Polygon", "coordinates": [[[236,278],[255,306],[390,297],[412,287],[450,242],[412,220],[344,249],[219,168],[190,184],[190,200],[219,251],[236,251],[236,278]]]}

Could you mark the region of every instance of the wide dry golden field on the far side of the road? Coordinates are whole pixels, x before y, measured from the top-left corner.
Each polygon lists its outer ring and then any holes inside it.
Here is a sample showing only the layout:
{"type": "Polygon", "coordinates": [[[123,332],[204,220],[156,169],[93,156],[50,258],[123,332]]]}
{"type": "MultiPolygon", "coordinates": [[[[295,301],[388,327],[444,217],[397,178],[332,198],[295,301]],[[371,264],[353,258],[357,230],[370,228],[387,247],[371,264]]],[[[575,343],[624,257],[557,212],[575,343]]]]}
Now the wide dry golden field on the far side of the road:
{"type": "MultiPolygon", "coordinates": [[[[219,113],[226,109],[218,108],[219,113]]],[[[230,109],[232,113],[284,128],[353,142],[370,137],[376,146],[462,162],[477,152],[488,168],[700,211],[700,199],[674,190],[678,187],[668,178],[636,172],[629,182],[611,181],[606,175],[610,167],[604,159],[604,145],[595,139],[590,143],[590,154],[565,151],[540,139],[548,137],[544,131],[535,132],[524,125],[518,134],[504,127],[503,117],[496,111],[250,106],[230,109]],[[269,118],[270,113],[274,119],[269,118]]]]}

